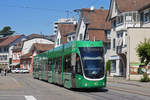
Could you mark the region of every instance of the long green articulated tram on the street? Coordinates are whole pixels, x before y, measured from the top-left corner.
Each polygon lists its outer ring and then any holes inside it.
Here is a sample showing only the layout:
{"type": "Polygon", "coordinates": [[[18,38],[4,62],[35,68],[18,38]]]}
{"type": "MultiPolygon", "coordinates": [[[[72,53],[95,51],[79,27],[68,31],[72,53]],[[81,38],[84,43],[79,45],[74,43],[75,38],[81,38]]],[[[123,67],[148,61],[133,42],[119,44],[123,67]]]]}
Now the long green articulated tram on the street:
{"type": "Polygon", "coordinates": [[[102,41],[73,41],[34,56],[33,77],[66,88],[106,87],[102,41]]]}

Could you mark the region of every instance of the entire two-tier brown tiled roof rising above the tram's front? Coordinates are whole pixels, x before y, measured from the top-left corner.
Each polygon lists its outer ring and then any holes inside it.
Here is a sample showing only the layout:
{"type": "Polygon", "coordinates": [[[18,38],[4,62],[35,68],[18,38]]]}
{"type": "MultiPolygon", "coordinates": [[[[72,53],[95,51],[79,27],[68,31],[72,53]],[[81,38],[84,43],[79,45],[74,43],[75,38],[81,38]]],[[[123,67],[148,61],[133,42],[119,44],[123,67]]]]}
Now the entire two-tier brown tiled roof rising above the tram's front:
{"type": "Polygon", "coordinates": [[[108,10],[94,9],[91,11],[89,8],[81,10],[83,18],[88,24],[88,35],[90,41],[105,41],[105,30],[111,29],[111,23],[106,21],[108,10]]]}

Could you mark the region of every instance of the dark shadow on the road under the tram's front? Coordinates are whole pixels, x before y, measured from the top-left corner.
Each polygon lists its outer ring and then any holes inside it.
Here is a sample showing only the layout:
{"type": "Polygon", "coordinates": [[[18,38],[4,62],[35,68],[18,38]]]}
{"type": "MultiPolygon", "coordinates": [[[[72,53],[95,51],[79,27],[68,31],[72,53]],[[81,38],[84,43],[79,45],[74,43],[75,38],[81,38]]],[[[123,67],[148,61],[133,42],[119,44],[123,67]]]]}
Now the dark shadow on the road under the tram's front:
{"type": "Polygon", "coordinates": [[[96,88],[96,89],[72,89],[72,91],[92,93],[92,92],[108,92],[109,90],[106,88],[98,88],[98,89],[96,88]]]}

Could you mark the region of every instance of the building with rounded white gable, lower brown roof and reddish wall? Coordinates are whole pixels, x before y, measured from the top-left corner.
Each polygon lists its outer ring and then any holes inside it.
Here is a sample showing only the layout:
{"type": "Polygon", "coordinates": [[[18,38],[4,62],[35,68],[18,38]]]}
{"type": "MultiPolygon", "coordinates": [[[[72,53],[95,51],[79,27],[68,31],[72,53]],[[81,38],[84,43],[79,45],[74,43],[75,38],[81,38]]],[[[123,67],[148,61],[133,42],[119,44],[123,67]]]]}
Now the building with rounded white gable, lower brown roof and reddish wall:
{"type": "Polygon", "coordinates": [[[43,35],[31,34],[27,36],[21,51],[20,68],[28,69],[32,72],[33,56],[51,49],[51,45],[54,45],[54,42],[43,35]]]}

